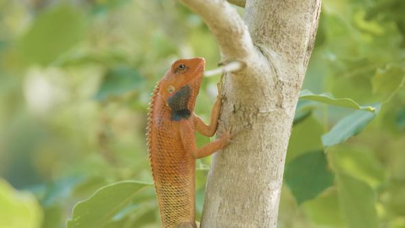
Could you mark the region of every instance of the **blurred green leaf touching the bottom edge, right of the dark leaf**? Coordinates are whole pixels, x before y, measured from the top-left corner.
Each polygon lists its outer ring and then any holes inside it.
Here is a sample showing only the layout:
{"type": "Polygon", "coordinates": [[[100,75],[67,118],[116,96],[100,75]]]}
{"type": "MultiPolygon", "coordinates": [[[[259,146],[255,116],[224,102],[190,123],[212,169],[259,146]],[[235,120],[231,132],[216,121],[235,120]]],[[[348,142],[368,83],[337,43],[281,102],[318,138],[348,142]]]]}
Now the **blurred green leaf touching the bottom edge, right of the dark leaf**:
{"type": "Polygon", "coordinates": [[[375,194],[366,183],[345,174],[338,175],[338,194],[349,227],[378,227],[375,194]]]}

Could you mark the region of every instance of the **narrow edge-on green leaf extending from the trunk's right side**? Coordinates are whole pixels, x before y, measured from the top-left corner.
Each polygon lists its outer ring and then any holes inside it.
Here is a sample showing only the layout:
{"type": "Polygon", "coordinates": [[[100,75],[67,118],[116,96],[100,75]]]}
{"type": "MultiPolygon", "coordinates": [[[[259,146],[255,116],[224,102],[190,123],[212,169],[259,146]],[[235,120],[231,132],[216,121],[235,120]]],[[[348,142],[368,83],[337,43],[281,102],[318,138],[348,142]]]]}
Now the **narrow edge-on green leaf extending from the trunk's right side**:
{"type": "Polygon", "coordinates": [[[349,98],[334,98],[332,95],[329,94],[314,94],[309,90],[303,90],[301,93],[299,93],[299,98],[301,99],[308,99],[308,100],[314,100],[316,102],[322,102],[325,104],[332,104],[334,106],[340,106],[343,108],[349,108],[349,109],[358,109],[358,110],[365,110],[365,111],[370,111],[373,112],[375,111],[375,108],[372,106],[360,106],[357,102],[354,100],[351,100],[349,98]]]}

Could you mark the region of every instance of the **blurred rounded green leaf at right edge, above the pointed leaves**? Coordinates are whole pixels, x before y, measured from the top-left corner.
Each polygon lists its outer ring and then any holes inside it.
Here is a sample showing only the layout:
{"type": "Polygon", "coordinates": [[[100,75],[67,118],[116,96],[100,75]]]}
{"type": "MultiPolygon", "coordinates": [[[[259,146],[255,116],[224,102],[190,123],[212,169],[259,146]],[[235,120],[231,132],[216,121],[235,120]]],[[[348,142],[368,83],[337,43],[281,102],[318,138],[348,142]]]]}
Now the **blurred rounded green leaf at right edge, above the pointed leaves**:
{"type": "Polygon", "coordinates": [[[378,69],[371,79],[374,93],[393,93],[404,84],[405,70],[397,65],[386,65],[385,69],[378,69]]]}

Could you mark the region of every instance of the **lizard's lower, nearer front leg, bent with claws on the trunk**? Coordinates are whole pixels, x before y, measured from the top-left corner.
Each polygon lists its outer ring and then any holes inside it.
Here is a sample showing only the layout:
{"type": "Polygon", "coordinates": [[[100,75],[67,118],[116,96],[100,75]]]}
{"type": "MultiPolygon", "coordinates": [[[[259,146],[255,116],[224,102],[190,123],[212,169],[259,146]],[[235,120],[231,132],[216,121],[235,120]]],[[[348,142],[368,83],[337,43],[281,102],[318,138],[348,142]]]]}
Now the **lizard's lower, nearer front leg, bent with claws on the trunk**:
{"type": "Polygon", "coordinates": [[[202,148],[198,148],[196,145],[196,139],[194,137],[194,128],[191,124],[184,124],[180,129],[181,141],[186,152],[193,155],[195,159],[200,159],[202,157],[207,157],[213,154],[229,144],[231,141],[231,130],[230,128],[225,131],[218,139],[211,141],[202,148]]]}

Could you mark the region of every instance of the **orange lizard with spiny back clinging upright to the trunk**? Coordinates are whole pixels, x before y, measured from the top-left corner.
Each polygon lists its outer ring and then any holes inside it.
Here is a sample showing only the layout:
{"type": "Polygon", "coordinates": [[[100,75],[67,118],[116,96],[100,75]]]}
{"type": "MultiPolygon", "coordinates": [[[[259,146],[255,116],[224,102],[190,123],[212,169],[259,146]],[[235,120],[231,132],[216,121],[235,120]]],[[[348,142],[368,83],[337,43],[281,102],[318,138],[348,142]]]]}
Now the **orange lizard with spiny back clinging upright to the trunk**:
{"type": "Polygon", "coordinates": [[[177,60],[151,98],[148,150],[162,227],[196,227],[196,159],[211,155],[231,141],[227,129],[215,141],[202,148],[196,146],[195,131],[207,137],[216,133],[221,109],[218,95],[209,125],[193,112],[204,69],[204,58],[177,60]]]}

